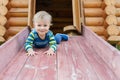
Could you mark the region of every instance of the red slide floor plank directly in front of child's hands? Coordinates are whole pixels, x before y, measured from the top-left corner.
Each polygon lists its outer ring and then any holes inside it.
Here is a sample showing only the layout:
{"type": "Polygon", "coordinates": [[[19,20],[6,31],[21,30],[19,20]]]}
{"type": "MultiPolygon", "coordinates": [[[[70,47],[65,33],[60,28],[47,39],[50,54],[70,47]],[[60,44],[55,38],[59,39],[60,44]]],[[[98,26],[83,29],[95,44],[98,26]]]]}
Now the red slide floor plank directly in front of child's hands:
{"type": "Polygon", "coordinates": [[[39,54],[29,57],[17,80],[56,80],[56,56],[43,54],[46,49],[36,51],[39,54]]]}

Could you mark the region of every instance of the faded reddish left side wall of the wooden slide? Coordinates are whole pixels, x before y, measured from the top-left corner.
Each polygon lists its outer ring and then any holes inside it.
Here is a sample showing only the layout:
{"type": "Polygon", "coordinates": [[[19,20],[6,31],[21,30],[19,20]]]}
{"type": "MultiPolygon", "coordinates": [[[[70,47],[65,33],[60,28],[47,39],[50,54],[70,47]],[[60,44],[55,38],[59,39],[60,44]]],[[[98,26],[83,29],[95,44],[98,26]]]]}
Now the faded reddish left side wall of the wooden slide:
{"type": "Polygon", "coordinates": [[[23,47],[28,33],[28,28],[25,28],[22,32],[14,36],[14,38],[10,39],[0,46],[0,72],[8,65],[8,63],[23,47]]]}

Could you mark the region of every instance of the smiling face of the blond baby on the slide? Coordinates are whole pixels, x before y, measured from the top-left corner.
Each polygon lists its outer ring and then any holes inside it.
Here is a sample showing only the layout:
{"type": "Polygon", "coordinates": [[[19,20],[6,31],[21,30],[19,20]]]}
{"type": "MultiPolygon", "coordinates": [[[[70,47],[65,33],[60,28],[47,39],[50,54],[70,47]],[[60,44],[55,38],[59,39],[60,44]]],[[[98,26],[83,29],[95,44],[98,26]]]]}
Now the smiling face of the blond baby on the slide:
{"type": "Polygon", "coordinates": [[[49,21],[34,22],[35,29],[40,36],[46,35],[50,28],[49,21]]]}

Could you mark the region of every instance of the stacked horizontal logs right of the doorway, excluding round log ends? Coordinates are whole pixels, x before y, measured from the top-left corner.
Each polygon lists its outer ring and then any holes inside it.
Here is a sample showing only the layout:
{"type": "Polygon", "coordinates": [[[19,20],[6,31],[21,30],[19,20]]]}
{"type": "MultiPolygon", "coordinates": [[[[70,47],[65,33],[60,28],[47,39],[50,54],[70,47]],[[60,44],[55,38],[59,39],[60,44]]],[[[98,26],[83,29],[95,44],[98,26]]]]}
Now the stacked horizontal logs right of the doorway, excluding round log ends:
{"type": "Polygon", "coordinates": [[[105,23],[105,4],[103,0],[84,0],[84,16],[85,25],[92,31],[98,34],[103,39],[107,40],[105,23]]]}

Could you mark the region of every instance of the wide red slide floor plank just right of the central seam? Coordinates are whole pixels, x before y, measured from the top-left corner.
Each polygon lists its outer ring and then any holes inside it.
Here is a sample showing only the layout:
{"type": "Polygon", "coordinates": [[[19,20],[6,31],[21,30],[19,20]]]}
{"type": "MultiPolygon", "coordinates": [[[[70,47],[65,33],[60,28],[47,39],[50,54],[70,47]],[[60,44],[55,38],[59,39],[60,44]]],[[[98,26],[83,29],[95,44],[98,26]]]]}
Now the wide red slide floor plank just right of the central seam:
{"type": "Polygon", "coordinates": [[[72,37],[58,46],[58,80],[99,80],[79,48],[82,38],[72,37]]]}

